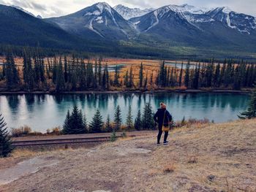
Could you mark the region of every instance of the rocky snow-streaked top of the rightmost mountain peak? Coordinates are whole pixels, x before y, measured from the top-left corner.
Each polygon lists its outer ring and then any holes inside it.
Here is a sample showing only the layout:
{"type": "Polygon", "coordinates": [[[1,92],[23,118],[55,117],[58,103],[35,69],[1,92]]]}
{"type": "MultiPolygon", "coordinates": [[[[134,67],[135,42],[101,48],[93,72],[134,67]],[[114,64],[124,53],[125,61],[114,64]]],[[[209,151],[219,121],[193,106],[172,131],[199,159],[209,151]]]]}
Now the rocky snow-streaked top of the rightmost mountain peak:
{"type": "Polygon", "coordinates": [[[228,7],[218,7],[206,12],[214,20],[222,22],[225,26],[241,33],[251,34],[256,29],[256,18],[251,15],[234,12],[228,7]]]}

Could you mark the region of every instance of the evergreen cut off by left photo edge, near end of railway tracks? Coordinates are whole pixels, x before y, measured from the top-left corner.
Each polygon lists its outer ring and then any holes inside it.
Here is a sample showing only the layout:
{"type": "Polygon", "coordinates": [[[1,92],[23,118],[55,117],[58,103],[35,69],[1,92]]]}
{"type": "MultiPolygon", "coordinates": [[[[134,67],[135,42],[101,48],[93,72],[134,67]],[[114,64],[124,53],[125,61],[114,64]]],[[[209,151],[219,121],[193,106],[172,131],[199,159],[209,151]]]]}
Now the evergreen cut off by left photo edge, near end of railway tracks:
{"type": "Polygon", "coordinates": [[[0,158],[7,157],[12,153],[12,142],[10,140],[9,132],[7,131],[7,124],[4,122],[4,117],[0,113],[0,158]]]}

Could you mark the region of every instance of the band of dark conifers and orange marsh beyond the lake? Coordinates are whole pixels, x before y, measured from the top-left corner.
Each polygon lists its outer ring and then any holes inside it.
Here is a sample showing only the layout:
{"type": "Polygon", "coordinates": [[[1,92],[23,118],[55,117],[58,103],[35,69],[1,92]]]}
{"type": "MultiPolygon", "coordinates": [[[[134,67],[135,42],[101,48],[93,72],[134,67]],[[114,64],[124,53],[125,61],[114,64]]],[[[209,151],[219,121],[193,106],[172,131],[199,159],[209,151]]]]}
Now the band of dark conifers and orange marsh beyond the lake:
{"type": "Polygon", "coordinates": [[[72,55],[44,58],[39,48],[23,50],[23,66],[15,64],[14,54],[8,51],[0,66],[1,91],[148,91],[158,89],[231,89],[252,88],[256,66],[244,61],[214,59],[182,63],[180,68],[167,66],[165,61],[156,70],[144,64],[108,71],[102,58],[85,60],[72,55]],[[86,61],[86,62],[85,62],[86,61]]]}

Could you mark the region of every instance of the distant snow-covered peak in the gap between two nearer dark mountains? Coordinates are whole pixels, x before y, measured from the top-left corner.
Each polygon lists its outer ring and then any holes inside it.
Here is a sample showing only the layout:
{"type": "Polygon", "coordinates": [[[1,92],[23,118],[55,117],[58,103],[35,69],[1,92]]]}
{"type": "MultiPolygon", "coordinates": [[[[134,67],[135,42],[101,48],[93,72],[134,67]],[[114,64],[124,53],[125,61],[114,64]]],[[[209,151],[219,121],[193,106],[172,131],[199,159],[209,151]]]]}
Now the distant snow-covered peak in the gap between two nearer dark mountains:
{"type": "Polygon", "coordinates": [[[147,14],[148,12],[154,11],[153,8],[150,9],[139,9],[139,8],[129,8],[124,5],[118,4],[113,9],[116,10],[124,19],[129,20],[130,18],[140,17],[147,14]]]}

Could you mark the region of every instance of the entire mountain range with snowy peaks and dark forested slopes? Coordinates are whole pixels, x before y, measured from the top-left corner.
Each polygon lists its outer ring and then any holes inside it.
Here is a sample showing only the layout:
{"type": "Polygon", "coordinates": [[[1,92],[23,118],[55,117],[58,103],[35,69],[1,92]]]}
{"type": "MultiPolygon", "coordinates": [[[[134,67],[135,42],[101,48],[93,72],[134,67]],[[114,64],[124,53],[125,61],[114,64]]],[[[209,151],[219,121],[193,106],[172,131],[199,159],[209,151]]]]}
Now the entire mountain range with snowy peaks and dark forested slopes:
{"type": "Polygon", "coordinates": [[[227,7],[205,9],[183,4],[138,9],[102,2],[70,15],[42,19],[18,7],[0,5],[0,26],[1,44],[39,43],[89,51],[97,47],[103,52],[112,46],[124,53],[132,52],[132,47],[170,54],[252,55],[256,50],[255,17],[227,7]]]}

